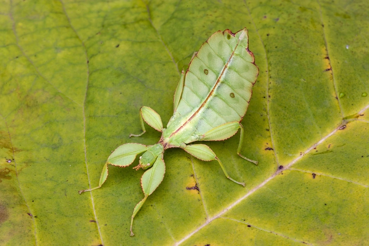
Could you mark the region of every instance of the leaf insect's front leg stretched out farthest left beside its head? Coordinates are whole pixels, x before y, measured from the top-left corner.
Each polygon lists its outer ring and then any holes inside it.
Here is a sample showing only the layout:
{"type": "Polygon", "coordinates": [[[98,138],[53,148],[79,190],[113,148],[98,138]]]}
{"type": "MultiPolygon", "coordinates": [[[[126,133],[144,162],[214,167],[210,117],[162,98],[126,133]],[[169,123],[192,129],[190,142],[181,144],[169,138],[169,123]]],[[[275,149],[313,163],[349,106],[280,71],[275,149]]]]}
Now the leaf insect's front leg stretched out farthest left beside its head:
{"type": "Polygon", "coordinates": [[[147,150],[147,147],[141,144],[125,144],[125,145],[119,146],[107,158],[107,161],[104,167],[102,168],[99,186],[91,188],[91,189],[87,189],[87,190],[81,190],[78,193],[82,194],[82,192],[92,191],[92,190],[96,190],[100,188],[107,179],[107,175],[108,175],[107,165],[108,164],[111,164],[114,166],[120,166],[120,167],[129,166],[136,159],[137,154],[142,153],[146,150],[147,150]]]}

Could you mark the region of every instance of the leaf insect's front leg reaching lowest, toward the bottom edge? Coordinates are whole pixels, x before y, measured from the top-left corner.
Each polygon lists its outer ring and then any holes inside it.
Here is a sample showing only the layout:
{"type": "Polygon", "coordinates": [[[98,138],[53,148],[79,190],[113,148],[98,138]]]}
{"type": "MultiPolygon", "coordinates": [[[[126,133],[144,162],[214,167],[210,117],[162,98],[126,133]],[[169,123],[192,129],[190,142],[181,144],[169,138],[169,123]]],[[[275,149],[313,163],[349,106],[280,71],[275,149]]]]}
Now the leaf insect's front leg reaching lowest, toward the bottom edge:
{"type": "Polygon", "coordinates": [[[141,177],[141,187],[143,194],[145,197],[137,203],[133,210],[133,214],[131,217],[131,236],[133,236],[132,226],[133,226],[133,219],[138,213],[139,209],[142,207],[143,203],[146,201],[146,198],[151,195],[156,188],[160,185],[160,183],[164,179],[164,173],[165,173],[165,164],[163,160],[163,154],[158,156],[157,160],[155,161],[152,168],[145,171],[141,177]]]}

